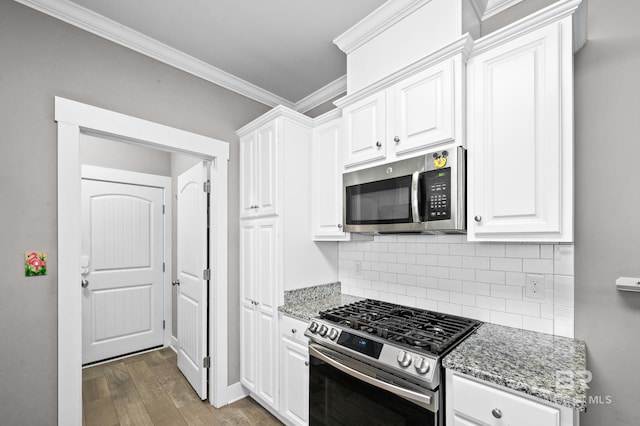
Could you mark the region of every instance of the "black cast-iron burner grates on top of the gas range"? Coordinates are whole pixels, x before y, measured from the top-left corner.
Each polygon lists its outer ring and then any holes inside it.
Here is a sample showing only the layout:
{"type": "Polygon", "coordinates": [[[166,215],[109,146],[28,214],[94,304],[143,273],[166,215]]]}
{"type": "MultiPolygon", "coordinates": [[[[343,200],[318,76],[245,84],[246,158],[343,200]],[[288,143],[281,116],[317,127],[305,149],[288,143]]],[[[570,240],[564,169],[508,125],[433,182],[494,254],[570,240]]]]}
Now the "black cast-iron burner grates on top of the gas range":
{"type": "Polygon", "coordinates": [[[320,318],[392,342],[443,354],[480,322],[366,299],[320,312],[320,318]]]}

